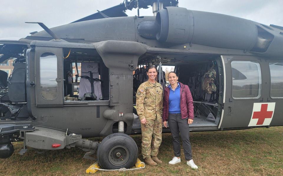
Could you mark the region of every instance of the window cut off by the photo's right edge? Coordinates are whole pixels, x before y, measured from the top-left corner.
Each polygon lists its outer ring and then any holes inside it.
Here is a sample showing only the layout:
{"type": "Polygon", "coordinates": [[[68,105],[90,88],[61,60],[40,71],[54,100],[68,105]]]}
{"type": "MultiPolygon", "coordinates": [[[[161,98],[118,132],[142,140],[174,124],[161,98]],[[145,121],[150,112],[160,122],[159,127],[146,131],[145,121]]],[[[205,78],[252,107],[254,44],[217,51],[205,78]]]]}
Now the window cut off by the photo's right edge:
{"type": "Polygon", "coordinates": [[[270,97],[283,98],[283,62],[269,62],[270,97]]]}

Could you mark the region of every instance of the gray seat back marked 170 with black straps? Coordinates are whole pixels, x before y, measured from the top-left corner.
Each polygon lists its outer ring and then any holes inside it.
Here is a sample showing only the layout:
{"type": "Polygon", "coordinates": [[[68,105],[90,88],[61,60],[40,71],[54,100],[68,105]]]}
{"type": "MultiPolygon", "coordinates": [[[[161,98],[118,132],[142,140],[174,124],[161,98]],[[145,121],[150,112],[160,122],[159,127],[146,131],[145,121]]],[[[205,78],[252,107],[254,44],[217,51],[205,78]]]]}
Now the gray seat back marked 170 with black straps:
{"type": "Polygon", "coordinates": [[[101,100],[103,98],[98,73],[98,63],[82,62],[79,99],[88,92],[93,92],[96,95],[97,100],[101,100]],[[93,82],[93,86],[91,86],[91,82],[93,82]]]}

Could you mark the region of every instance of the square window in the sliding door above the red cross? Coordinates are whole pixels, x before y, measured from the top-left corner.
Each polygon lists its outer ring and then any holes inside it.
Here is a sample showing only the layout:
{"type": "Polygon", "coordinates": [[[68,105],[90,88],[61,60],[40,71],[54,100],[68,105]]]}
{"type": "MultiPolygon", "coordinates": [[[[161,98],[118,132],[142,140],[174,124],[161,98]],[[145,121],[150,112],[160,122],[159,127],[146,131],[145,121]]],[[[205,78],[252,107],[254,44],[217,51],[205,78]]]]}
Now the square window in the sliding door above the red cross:
{"type": "Polygon", "coordinates": [[[232,97],[258,99],[261,94],[261,70],[255,61],[232,61],[232,97]]]}

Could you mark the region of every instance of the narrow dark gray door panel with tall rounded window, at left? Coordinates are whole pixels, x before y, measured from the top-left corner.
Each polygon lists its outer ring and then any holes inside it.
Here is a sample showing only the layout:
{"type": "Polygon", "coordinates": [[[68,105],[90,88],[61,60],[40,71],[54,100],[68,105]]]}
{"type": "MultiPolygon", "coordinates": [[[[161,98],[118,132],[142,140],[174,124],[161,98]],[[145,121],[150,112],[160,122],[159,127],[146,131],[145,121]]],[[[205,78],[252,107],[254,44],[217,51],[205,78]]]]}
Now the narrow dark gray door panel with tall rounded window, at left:
{"type": "Polygon", "coordinates": [[[37,107],[63,106],[63,50],[35,48],[35,93],[37,107]]]}

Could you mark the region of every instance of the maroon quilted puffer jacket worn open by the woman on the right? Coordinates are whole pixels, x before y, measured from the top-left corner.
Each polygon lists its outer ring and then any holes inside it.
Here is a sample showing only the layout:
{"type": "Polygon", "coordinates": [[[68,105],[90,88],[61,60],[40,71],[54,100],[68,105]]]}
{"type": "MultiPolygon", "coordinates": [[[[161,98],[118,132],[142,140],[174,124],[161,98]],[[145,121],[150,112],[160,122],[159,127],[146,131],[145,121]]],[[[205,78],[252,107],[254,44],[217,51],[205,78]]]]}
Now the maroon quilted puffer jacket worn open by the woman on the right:
{"type": "MultiPolygon", "coordinates": [[[[189,119],[194,119],[194,105],[192,101],[192,94],[190,89],[187,85],[180,83],[180,107],[181,107],[181,115],[182,119],[189,117],[189,119]]],[[[168,113],[169,113],[169,94],[170,88],[166,87],[164,90],[164,97],[163,97],[163,113],[162,113],[162,121],[168,120],[168,113]]]]}

